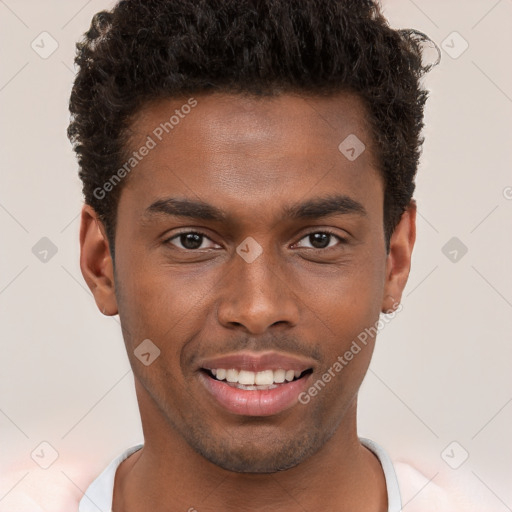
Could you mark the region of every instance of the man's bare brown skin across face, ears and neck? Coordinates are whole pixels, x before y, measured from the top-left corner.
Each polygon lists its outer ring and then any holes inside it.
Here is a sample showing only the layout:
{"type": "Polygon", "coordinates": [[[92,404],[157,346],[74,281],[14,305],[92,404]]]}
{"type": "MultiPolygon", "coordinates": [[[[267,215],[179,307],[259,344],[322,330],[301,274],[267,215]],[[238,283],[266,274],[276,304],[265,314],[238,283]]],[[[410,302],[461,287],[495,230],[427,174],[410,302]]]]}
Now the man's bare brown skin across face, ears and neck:
{"type": "MultiPolygon", "coordinates": [[[[218,406],[197,364],[276,350],[308,358],[311,382],[321,378],[380,312],[399,303],[415,203],[387,254],[383,180],[354,95],[195,99],[126,178],[115,271],[103,225],[90,206],[82,211],[82,273],[100,311],[119,314],[145,437],[117,472],[114,511],[385,511],[382,469],[356,431],[357,392],[374,339],[307,405],[266,417],[218,406]],[[366,145],[354,161],[338,150],[349,134],[366,145]],[[332,194],[359,202],[365,214],[280,213],[332,194]],[[228,220],[144,216],[166,197],[201,200],[228,220]],[[315,248],[309,235],[326,229],[345,242],[332,236],[327,248],[315,248]],[[176,237],[191,231],[206,235],[199,249],[176,237]],[[236,252],[249,236],[263,251],[252,263],[236,252]],[[145,366],[134,349],[148,338],[161,353],[145,366]]],[[[134,120],[131,148],[186,101],[146,105],[134,120]]]]}

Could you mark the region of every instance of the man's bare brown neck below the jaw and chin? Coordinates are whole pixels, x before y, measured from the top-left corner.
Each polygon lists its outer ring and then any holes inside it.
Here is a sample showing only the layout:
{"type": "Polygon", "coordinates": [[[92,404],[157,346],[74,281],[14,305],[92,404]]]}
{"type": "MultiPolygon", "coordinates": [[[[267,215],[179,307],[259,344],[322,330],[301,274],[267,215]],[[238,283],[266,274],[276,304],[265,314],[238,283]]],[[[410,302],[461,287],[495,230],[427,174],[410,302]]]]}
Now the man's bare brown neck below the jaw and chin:
{"type": "Polygon", "coordinates": [[[117,470],[113,512],[295,512],[298,504],[303,510],[385,512],[384,474],[359,442],[356,409],[354,400],[329,441],[308,459],[286,471],[256,474],[213,464],[158,413],[148,416],[141,407],[144,448],[117,470]]]}

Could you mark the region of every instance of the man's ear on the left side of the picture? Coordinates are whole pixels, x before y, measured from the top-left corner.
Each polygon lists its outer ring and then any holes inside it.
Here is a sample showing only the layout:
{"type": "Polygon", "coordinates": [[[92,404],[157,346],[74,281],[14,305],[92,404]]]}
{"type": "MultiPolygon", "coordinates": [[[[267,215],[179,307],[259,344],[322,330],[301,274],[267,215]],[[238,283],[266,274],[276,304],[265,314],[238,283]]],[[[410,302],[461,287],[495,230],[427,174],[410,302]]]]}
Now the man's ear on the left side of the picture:
{"type": "Polygon", "coordinates": [[[114,265],[106,230],[88,204],[83,206],[80,220],[80,269],[99,310],[116,315],[114,265]]]}

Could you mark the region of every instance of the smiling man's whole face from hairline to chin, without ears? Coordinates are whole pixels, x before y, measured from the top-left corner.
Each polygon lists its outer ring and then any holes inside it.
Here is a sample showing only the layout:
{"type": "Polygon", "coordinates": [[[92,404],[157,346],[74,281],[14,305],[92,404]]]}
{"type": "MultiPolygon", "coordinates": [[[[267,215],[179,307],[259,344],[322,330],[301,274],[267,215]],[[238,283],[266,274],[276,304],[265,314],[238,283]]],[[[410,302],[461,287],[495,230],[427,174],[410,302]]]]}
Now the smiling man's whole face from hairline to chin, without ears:
{"type": "Polygon", "coordinates": [[[383,181],[354,96],[195,99],[161,141],[155,129],[187,98],[137,117],[130,150],[148,135],[157,144],[118,205],[115,297],[143,425],[165,425],[232,471],[291,468],[351,428],[373,339],[309,403],[297,397],[379,318],[389,291],[383,181]],[[350,135],[366,145],[356,159],[338,149],[350,135]],[[224,217],[171,215],[183,205],[170,198],[224,217]],[[320,208],[300,209],[311,201],[320,208]],[[148,366],[134,355],[147,339],[160,350],[148,366]],[[302,377],[245,390],[215,379],[218,369],[302,377]]]}

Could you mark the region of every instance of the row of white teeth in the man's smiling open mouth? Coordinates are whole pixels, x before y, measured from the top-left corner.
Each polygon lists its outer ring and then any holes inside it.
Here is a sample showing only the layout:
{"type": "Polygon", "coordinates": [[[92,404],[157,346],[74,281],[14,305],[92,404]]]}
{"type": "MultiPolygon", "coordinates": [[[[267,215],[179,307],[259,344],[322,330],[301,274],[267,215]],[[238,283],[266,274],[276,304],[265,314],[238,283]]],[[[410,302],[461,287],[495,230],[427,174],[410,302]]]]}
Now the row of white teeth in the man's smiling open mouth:
{"type": "Polygon", "coordinates": [[[302,372],[298,370],[285,370],[283,368],[277,368],[275,370],[268,369],[259,372],[237,370],[234,368],[201,368],[201,371],[213,380],[245,391],[276,389],[313,373],[312,368],[308,368],[302,372]]]}

